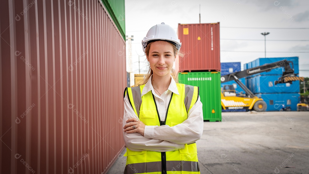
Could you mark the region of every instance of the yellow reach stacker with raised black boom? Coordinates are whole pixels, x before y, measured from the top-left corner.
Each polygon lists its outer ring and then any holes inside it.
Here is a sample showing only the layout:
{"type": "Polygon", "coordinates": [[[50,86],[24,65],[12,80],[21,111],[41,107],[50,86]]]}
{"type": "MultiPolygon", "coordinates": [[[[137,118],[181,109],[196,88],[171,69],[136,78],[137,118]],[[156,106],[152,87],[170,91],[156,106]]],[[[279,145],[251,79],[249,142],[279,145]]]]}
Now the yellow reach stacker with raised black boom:
{"type": "Polygon", "coordinates": [[[256,97],[250,89],[246,87],[239,79],[243,77],[252,76],[253,74],[268,72],[274,68],[284,67],[284,72],[281,77],[275,81],[275,85],[278,83],[291,83],[295,80],[304,81],[304,77],[298,77],[294,74],[293,62],[287,61],[286,59],[268,63],[259,67],[254,67],[246,69],[239,72],[234,72],[221,76],[221,83],[235,80],[235,82],[246,92],[239,97],[236,96],[235,89],[233,85],[224,85],[221,91],[221,106],[222,110],[226,109],[248,109],[258,112],[266,111],[267,105],[263,99],[256,97]]]}

